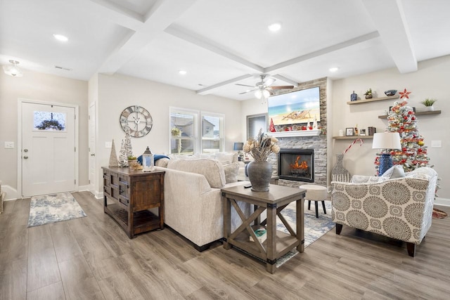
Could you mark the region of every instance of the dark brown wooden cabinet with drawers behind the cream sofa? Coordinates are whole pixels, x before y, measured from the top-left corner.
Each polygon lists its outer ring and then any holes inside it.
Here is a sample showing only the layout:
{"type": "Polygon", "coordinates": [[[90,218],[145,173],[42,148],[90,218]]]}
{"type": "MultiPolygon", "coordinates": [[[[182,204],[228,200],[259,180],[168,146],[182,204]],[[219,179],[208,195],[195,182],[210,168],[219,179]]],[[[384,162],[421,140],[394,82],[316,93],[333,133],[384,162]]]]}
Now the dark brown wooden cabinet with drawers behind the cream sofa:
{"type": "Polygon", "coordinates": [[[132,171],[102,167],[103,209],[133,238],[138,233],[164,228],[165,171],[132,171]],[[158,208],[158,216],[148,209],[158,208]]]}

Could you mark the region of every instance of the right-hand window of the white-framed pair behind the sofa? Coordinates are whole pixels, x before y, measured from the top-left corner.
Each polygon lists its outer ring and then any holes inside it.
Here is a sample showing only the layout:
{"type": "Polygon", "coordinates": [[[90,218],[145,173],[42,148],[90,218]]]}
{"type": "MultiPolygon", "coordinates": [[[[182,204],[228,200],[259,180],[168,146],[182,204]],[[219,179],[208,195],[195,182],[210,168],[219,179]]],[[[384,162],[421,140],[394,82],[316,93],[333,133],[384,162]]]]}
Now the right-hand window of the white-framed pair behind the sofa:
{"type": "Polygon", "coordinates": [[[202,152],[220,152],[224,148],[224,115],[202,112],[202,152]]]}

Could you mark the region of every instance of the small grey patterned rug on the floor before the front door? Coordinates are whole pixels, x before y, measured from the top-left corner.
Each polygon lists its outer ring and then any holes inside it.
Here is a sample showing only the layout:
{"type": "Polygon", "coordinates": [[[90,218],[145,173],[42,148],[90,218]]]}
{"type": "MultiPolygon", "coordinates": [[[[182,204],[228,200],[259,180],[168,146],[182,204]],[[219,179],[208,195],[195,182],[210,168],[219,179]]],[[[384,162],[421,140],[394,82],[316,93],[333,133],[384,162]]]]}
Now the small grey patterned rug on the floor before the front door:
{"type": "Polygon", "coordinates": [[[56,223],[86,216],[70,193],[42,195],[31,198],[28,227],[56,223]]]}

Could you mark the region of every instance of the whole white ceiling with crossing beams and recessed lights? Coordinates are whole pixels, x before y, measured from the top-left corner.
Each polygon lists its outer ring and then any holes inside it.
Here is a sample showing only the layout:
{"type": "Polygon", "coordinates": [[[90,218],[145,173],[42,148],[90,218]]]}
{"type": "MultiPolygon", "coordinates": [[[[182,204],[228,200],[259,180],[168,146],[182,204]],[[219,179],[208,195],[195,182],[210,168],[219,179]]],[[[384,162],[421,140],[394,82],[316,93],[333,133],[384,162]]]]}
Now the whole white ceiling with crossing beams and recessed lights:
{"type": "Polygon", "coordinates": [[[414,72],[450,54],[449,12],[448,0],[0,0],[0,63],[18,60],[24,76],[118,73],[245,100],[251,88],[236,84],[263,73],[291,85],[414,72]]]}

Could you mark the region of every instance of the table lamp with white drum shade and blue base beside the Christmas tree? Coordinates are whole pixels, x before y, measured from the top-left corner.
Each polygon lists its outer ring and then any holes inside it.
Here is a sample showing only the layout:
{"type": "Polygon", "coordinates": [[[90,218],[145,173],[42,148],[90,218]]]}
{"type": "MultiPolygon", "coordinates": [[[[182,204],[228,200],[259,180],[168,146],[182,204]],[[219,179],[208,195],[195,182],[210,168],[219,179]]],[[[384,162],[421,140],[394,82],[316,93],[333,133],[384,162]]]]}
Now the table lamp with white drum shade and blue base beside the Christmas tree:
{"type": "Polygon", "coordinates": [[[378,176],[382,176],[387,169],[390,169],[394,163],[392,156],[387,149],[401,149],[400,134],[398,132],[382,132],[373,134],[372,149],[385,149],[380,157],[380,169],[378,169],[378,176]]]}

